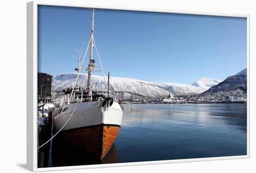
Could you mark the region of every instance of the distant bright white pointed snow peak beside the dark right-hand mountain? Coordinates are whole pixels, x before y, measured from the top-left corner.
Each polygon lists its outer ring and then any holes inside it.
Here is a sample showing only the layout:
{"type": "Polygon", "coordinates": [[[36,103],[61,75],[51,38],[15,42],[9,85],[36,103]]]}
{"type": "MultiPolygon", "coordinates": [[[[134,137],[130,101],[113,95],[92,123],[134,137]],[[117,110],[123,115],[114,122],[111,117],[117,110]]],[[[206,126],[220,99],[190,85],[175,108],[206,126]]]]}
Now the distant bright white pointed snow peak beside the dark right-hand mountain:
{"type": "Polygon", "coordinates": [[[208,90],[210,87],[213,87],[222,82],[222,80],[212,79],[212,78],[200,78],[199,80],[195,80],[192,86],[200,87],[205,90],[208,90]]]}

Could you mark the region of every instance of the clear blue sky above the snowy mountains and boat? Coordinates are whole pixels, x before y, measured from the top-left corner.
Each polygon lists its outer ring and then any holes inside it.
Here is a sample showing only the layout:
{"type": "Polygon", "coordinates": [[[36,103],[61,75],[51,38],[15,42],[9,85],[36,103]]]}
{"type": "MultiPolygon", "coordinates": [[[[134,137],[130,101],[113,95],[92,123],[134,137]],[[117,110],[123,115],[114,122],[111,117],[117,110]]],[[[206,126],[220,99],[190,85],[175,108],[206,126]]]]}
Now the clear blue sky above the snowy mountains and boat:
{"type": "MultiPolygon", "coordinates": [[[[39,6],[38,71],[74,72],[74,50],[85,51],[91,16],[87,8],[39,6]]],[[[104,72],[112,76],[191,85],[247,66],[246,18],[102,9],[94,23],[104,72]]],[[[94,59],[100,69],[95,51],[94,59]]]]}

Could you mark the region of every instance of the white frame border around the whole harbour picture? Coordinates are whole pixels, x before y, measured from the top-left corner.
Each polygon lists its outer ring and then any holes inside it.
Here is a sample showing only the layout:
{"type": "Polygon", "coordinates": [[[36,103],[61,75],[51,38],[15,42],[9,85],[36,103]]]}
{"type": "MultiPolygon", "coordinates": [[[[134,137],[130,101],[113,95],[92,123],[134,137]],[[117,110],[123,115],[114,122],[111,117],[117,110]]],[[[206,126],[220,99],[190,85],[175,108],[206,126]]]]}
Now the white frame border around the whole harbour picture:
{"type": "Polygon", "coordinates": [[[32,1],[27,3],[27,169],[33,172],[42,171],[57,171],[85,168],[100,168],[100,167],[117,167],[117,166],[136,166],[136,165],[152,165],[165,163],[180,163],[180,162],[195,162],[209,160],[228,160],[228,159],[244,159],[249,158],[249,116],[250,116],[250,61],[249,61],[249,14],[231,14],[231,13],[209,13],[186,10],[171,10],[171,9],[156,9],[156,8],[141,8],[141,7],[121,7],[121,6],[101,6],[97,4],[78,4],[70,1],[49,2],[49,1],[32,1]],[[129,162],[101,165],[84,165],[84,166],[61,166],[37,168],[37,9],[38,5],[49,6],[66,6],[66,7],[87,7],[87,8],[104,8],[115,10],[133,10],[145,12],[163,12],[163,13],[183,13],[183,14],[198,14],[212,16],[227,16],[227,17],[243,17],[247,18],[247,155],[243,156],[227,156],[227,157],[211,157],[198,159],[180,159],[180,160],[162,160],[162,161],[144,161],[144,162],[129,162]]]}

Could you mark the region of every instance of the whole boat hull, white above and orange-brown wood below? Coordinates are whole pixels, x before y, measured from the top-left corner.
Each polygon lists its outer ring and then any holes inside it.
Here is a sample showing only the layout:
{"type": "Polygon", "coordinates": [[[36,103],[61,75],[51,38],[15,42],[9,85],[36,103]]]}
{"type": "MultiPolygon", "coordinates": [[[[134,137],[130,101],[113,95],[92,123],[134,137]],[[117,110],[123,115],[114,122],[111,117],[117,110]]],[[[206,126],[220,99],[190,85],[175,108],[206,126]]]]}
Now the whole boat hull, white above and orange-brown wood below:
{"type": "Polygon", "coordinates": [[[102,160],[121,127],[123,112],[119,104],[114,102],[111,106],[109,103],[103,106],[98,100],[63,105],[58,110],[54,118],[54,133],[60,131],[56,136],[61,141],[59,144],[102,160]],[[62,111],[58,113],[58,110],[62,111]]]}

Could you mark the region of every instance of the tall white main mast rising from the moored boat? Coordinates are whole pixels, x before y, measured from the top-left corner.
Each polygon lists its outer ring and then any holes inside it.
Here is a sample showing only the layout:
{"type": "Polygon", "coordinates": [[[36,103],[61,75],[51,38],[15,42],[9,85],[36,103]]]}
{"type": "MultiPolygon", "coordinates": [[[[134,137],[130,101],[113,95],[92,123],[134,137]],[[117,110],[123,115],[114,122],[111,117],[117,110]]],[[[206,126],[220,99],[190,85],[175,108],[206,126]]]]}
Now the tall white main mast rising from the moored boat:
{"type": "Polygon", "coordinates": [[[90,37],[90,55],[89,55],[89,65],[88,65],[88,97],[91,97],[91,74],[94,69],[93,60],[93,40],[94,40],[94,8],[92,17],[92,27],[91,27],[91,37],[90,37]]]}

